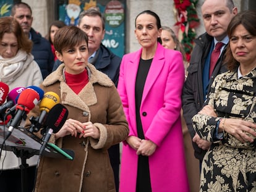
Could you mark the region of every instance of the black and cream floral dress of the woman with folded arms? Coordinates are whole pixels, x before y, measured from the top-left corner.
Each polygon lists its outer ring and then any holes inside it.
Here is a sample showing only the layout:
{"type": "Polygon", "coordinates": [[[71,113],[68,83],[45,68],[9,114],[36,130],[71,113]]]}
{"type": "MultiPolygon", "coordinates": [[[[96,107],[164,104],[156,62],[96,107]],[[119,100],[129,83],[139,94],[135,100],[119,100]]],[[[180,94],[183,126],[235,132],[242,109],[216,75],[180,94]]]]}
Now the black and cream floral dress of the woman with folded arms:
{"type": "Polygon", "coordinates": [[[213,142],[202,162],[200,191],[256,192],[255,138],[254,143],[241,143],[226,132],[221,139],[215,136],[221,117],[256,122],[256,69],[239,79],[237,70],[218,75],[205,104],[218,117],[197,114],[192,119],[200,138],[213,142]]]}

